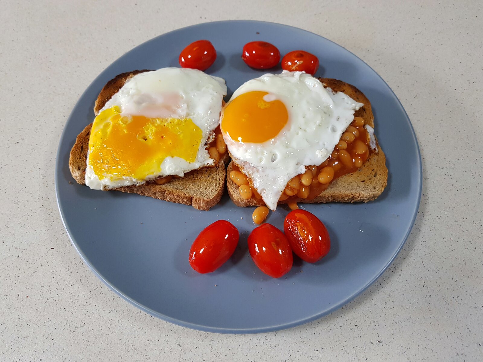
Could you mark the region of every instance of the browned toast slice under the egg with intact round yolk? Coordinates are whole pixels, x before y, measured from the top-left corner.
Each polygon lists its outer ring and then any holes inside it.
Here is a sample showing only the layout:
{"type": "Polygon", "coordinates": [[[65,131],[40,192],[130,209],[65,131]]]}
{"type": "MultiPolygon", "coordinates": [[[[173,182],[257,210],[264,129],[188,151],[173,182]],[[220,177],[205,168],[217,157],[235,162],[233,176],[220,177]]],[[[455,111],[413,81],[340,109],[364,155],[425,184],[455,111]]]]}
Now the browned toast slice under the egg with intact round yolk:
{"type": "MultiPolygon", "coordinates": [[[[319,78],[324,86],[331,88],[334,92],[343,92],[357,102],[364,103],[364,106],[355,111],[354,116],[362,117],[365,124],[374,127],[374,116],[369,99],[351,84],[344,83],[337,79],[319,78]]],[[[377,143],[377,140],[376,140],[377,143]]],[[[329,187],[312,200],[300,200],[305,203],[326,203],[326,202],[368,202],[382,194],[387,183],[386,157],[379,144],[377,153],[371,153],[364,165],[353,173],[346,174],[334,180],[329,187]]],[[[235,205],[261,206],[265,205],[261,199],[254,197],[245,200],[241,197],[239,186],[231,181],[229,174],[232,171],[232,163],[227,169],[228,195],[235,205]]],[[[286,204],[289,200],[279,201],[279,204],[286,204]]]]}

